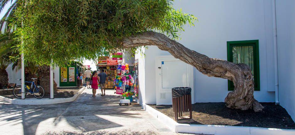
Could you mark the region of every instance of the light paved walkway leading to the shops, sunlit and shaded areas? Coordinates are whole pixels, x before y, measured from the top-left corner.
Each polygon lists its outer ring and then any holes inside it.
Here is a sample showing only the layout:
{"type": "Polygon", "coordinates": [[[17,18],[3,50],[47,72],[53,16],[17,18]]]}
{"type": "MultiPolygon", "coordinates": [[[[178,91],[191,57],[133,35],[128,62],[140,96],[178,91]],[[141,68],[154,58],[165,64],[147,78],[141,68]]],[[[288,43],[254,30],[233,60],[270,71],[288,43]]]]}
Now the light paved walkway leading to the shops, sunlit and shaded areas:
{"type": "Polygon", "coordinates": [[[138,104],[119,106],[121,96],[107,90],[54,105],[11,105],[0,100],[0,134],[182,134],[174,133],[138,104]]]}

